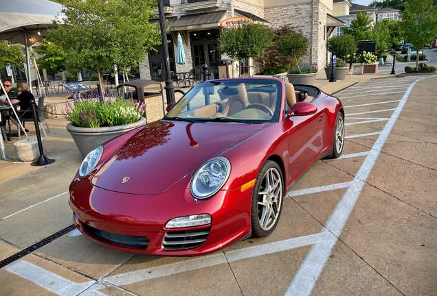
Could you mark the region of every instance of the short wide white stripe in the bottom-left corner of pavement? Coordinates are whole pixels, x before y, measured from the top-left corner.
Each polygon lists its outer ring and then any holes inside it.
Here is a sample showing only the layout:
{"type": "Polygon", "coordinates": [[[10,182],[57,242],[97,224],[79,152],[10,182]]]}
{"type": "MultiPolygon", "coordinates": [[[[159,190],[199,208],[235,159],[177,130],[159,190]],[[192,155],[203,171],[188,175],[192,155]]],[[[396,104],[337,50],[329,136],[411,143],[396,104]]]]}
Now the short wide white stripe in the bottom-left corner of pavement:
{"type": "MultiPolygon", "coordinates": [[[[91,281],[84,282],[82,284],[76,284],[65,279],[64,277],[60,277],[59,275],[56,275],[50,271],[46,271],[41,267],[37,267],[36,265],[23,260],[16,261],[8,265],[8,267],[5,269],[10,273],[14,273],[25,278],[26,280],[30,280],[38,286],[41,286],[57,295],[78,295],[95,283],[95,281],[91,281]]],[[[100,293],[99,295],[102,294],[100,293]]]]}

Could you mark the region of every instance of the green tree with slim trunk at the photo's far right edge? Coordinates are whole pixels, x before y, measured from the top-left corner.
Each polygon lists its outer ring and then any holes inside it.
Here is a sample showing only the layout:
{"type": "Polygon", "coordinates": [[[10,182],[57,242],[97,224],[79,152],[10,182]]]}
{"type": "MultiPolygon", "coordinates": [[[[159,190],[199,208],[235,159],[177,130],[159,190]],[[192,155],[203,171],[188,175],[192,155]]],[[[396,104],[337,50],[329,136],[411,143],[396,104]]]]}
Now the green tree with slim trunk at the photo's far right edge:
{"type": "MultiPolygon", "coordinates": [[[[419,53],[437,36],[437,5],[432,0],[408,0],[402,16],[405,40],[419,53]]],[[[416,71],[419,56],[416,55],[416,71]]]]}

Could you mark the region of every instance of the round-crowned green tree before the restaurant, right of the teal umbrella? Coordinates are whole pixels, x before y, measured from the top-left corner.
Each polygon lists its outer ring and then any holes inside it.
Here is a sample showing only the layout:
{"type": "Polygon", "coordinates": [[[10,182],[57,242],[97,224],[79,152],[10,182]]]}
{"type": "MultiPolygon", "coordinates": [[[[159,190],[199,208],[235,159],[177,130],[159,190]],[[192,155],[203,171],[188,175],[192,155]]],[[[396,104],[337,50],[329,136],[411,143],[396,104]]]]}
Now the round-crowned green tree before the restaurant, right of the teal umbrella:
{"type": "Polygon", "coordinates": [[[265,25],[245,22],[240,27],[223,29],[218,42],[219,51],[234,61],[257,59],[271,46],[273,31],[265,25]]]}

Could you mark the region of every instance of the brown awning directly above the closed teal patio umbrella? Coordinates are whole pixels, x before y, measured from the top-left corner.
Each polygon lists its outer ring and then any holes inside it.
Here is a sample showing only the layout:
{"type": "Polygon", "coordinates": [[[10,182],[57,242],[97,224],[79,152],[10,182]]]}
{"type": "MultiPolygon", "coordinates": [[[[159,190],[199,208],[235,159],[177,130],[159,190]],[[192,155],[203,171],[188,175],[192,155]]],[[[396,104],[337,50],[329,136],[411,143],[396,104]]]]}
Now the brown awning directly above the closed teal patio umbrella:
{"type": "Polygon", "coordinates": [[[175,32],[220,27],[220,22],[225,16],[226,10],[183,15],[172,23],[168,31],[175,32]]]}

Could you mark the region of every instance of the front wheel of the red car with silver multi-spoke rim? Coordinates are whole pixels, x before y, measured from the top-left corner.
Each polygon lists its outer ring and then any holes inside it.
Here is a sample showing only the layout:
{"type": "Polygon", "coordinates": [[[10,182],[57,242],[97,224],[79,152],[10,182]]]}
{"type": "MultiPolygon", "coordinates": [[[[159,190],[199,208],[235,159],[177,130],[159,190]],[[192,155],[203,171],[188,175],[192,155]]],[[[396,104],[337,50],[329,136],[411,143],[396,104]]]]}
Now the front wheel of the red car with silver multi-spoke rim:
{"type": "Polygon", "coordinates": [[[251,206],[252,236],[263,237],[275,230],[282,212],[284,180],[278,164],[267,160],[254,186],[251,206]]]}

